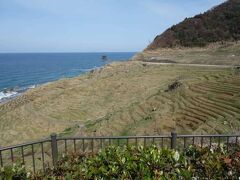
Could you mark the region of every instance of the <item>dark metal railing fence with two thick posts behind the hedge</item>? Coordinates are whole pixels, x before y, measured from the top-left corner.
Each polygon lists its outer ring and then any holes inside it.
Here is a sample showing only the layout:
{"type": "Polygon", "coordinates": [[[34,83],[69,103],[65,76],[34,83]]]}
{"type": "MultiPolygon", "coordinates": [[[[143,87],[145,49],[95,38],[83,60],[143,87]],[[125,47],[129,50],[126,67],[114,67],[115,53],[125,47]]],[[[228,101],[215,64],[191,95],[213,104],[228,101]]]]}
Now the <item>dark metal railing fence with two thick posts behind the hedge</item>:
{"type": "Polygon", "coordinates": [[[19,144],[0,148],[0,166],[9,166],[21,162],[27,168],[45,171],[46,167],[56,166],[58,158],[67,153],[97,152],[107,146],[149,146],[172,149],[184,149],[189,145],[219,147],[224,144],[227,150],[235,147],[240,135],[171,135],[161,136],[119,136],[119,137],[57,137],[52,134],[50,138],[41,141],[19,144]]]}

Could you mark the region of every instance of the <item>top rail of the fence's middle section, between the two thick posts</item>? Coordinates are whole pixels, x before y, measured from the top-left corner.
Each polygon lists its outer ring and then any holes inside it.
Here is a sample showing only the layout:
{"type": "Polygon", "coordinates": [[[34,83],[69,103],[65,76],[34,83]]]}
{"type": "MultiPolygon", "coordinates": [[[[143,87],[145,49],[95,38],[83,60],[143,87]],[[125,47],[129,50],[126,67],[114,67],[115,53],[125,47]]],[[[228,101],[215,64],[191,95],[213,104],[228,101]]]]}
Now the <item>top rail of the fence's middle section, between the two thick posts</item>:
{"type": "Polygon", "coordinates": [[[66,137],[66,138],[57,138],[58,141],[63,140],[82,140],[82,139],[150,139],[150,138],[171,138],[171,136],[115,136],[115,137],[66,137]]]}

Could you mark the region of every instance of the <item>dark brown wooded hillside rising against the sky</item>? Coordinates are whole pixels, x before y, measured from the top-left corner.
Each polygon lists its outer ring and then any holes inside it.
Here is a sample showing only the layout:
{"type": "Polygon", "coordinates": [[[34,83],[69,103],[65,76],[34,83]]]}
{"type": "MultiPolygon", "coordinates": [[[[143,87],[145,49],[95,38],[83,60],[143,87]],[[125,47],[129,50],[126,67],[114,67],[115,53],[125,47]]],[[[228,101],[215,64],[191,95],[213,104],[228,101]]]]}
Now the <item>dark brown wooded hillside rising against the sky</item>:
{"type": "Polygon", "coordinates": [[[240,0],[228,0],[211,10],[172,26],[145,49],[203,47],[213,42],[240,40],[240,0]]]}

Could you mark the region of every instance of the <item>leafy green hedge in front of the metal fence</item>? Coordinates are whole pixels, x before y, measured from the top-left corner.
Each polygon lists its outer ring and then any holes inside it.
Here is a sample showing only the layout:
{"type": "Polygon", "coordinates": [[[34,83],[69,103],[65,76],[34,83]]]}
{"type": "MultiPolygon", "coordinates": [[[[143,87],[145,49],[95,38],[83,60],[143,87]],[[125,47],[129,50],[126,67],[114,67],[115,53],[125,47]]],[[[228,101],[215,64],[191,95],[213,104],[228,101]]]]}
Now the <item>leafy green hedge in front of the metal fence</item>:
{"type": "Polygon", "coordinates": [[[13,166],[2,168],[0,175],[2,179],[239,179],[240,151],[109,147],[95,155],[64,156],[45,174],[13,166]]]}

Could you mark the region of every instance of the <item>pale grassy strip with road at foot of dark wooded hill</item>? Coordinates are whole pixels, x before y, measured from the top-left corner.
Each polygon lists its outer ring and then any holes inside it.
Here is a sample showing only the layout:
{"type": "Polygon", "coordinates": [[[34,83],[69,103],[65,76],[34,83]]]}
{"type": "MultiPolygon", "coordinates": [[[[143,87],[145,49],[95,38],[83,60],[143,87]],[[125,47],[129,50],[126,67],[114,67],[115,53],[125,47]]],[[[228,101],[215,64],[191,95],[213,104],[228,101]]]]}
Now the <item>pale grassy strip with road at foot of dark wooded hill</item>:
{"type": "Polygon", "coordinates": [[[134,59],[171,60],[176,63],[240,65],[240,41],[210,44],[205,48],[160,48],[144,51],[134,59]]]}

